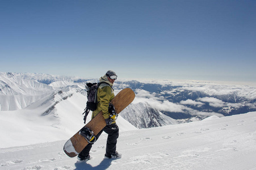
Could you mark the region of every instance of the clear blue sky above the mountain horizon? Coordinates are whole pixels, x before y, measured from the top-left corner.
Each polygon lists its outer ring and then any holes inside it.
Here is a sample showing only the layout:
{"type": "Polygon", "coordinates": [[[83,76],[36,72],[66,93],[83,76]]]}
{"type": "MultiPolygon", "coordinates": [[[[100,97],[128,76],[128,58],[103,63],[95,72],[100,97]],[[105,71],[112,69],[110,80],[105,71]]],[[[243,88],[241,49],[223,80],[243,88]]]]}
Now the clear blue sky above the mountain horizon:
{"type": "Polygon", "coordinates": [[[0,71],[256,82],[256,1],[2,0],[0,71]]]}

